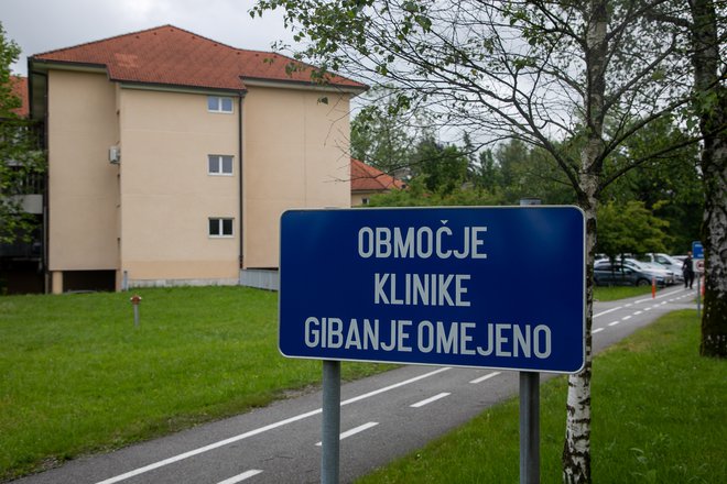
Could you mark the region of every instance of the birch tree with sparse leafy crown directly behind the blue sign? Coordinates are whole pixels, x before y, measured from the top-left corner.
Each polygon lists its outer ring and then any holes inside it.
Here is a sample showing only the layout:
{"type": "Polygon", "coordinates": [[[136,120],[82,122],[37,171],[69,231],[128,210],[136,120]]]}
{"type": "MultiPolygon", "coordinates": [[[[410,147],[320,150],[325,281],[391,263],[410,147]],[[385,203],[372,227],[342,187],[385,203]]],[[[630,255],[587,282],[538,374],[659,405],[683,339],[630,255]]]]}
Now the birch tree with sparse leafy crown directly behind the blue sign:
{"type": "Polygon", "coordinates": [[[569,377],[566,404],[568,483],[590,482],[596,211],[606,185],[633,167],[609,170],[610,155],[688,99],[680,32],[645,18],[662,3],[258,0],[253,9],[284,8],[313,63],[371,84],[386,78],[400,99],[436,105],[448,127],[541,147],[572,185],[586,217],[588,270],[586,362],[569,377]],[[605,130],[607,119],[616,129],[605,130]],[[574,155],[554,139],[582,147],[574,155]]]}

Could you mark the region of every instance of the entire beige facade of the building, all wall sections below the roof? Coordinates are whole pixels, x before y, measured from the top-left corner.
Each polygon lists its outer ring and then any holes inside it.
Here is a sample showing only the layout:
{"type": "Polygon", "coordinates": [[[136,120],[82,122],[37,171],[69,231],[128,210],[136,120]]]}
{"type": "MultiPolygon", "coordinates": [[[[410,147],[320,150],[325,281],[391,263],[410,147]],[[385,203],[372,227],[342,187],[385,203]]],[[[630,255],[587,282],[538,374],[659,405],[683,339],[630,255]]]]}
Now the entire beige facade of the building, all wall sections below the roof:
{"type": "Polygon", "coordinates": [[[138,89],[105,73],[48,72],[50,245],[54,290],[68,271],[116,271],[134,285],[234,283],[278,267],[289,208],[350,206],[349,95],[249,87],[234,113],[206,94],[138,89]],[[120,147],[120,164],[108,150],[120,147]],[[231,176],[207,155],[234,156],[231,176]],[[243,166],[243,227],[239,175],[243,166]],[[232,218],[234,237],[208,235],[232,218]]]}

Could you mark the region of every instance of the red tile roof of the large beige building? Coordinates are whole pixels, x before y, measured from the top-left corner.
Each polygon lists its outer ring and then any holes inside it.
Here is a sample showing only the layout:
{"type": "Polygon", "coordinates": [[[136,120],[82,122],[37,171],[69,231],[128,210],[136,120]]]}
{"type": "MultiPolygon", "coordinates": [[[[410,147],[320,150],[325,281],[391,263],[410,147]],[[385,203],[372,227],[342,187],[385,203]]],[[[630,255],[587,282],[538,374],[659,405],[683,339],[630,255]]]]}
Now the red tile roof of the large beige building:
{"type": "MultiPolygon", "coordinates": [[[[245,79],[311,82],[311,66],[280,54],[245,51],[173,25],[36,54],[32,62],[57,62],[106,67],[116,81],[215,89],[245,89],[245,79]],[[292,73],[294,64],[301,69],[292,73]]],[[[366,89],[345,77],[329,85],[366,89]]]]}

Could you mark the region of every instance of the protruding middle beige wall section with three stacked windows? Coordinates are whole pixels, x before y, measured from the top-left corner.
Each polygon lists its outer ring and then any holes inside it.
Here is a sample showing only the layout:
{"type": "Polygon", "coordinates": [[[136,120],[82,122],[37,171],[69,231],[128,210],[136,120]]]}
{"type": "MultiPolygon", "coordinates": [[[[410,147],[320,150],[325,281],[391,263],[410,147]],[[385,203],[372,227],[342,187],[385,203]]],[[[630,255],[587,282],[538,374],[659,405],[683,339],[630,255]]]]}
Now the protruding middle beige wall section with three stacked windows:
{"type": "Polygon", "coordinates": [[[207,95],[121,88],[121,270],[132,285],[236,280],[239,270],[239,136],[234,113],[207,95]],[[207,155],[231,155],[231,176],[209,175],[207,155]],[[234,218],[210,238],[208,219],[234,218]]]}

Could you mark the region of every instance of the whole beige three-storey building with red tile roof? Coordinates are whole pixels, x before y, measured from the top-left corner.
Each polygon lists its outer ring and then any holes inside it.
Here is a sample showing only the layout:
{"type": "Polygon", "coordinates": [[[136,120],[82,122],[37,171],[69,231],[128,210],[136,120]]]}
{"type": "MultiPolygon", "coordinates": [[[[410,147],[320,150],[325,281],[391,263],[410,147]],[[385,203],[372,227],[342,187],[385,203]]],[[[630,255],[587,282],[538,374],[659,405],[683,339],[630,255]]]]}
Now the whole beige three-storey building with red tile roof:
{"type": "Polygon", "coordinates": [[[29,79],[54,293],[269,286],[280,215],[350,205],[359,82],[171,25],[34,55],[29,79]]]}

